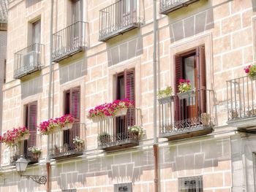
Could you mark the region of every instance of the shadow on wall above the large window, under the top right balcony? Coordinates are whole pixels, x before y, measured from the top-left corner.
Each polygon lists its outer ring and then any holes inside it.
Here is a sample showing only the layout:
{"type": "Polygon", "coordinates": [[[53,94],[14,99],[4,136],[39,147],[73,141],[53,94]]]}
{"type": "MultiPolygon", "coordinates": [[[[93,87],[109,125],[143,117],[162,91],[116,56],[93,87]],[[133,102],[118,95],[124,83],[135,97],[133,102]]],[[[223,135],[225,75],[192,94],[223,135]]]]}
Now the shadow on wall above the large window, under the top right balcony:
{"type": "Polygon", "coordinates": [[[198,11],[198,4],[200,7],[208,7],[206,5],[208,1],[199,1],[194,4],[190,4],[188,7],[183,7],[181,9],[176,10],[175,12],[171,12],[168,15],[169,23],[170,23],[170,42],[176,42],[178,40],[192,37],[196,34],[199,34],[203,31],[207,31],[208,29],[214,28],[214,12],[213,9],[206,9],[203,11],[198,11]],[[197,12],[196,14],[192,14],[187,18],[178,19],[179,15],[182,15],[184,12],[197,12]],[[173,23],[173,20],[175,22],[173,23]],[[178,20],[178,21],[177,21],[178,20]]]}

